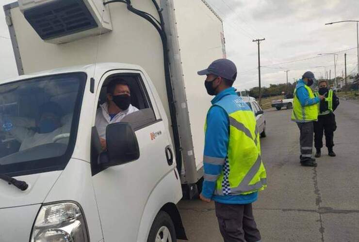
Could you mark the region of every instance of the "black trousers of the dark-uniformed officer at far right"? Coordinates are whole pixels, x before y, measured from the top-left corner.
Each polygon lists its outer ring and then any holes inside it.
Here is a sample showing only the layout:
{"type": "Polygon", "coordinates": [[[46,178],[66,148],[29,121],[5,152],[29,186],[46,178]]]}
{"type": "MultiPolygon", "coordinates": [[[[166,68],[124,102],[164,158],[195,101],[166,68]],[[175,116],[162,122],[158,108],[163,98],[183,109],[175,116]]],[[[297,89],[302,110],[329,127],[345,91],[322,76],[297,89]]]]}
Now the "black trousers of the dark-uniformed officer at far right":
{"type": "Polygon", "coordinates": [[[326,147],[331,150],[334,146],[334,131],[337,129],[334,113],[319,115],[318,121],[314,122],[314,147],[323,147],[323,131],[326,136],[326,147]]]}

